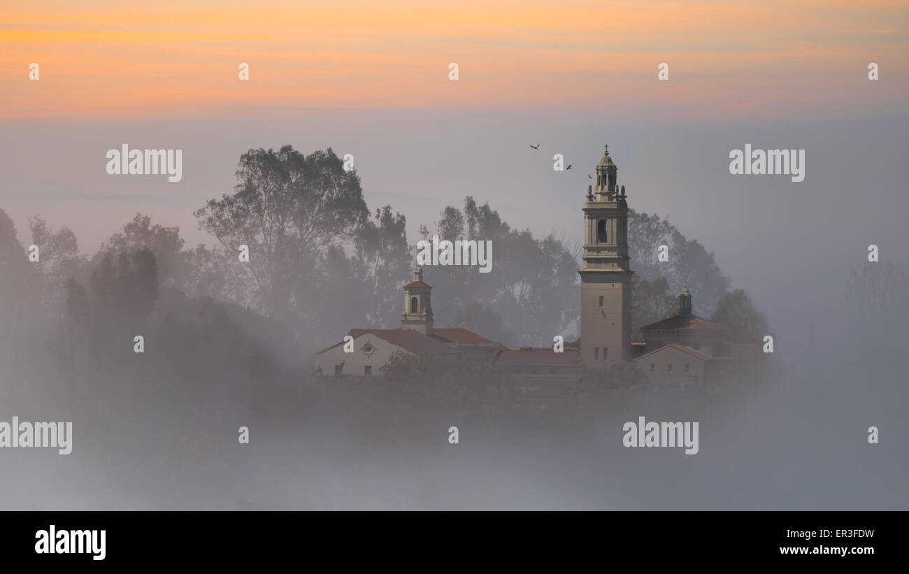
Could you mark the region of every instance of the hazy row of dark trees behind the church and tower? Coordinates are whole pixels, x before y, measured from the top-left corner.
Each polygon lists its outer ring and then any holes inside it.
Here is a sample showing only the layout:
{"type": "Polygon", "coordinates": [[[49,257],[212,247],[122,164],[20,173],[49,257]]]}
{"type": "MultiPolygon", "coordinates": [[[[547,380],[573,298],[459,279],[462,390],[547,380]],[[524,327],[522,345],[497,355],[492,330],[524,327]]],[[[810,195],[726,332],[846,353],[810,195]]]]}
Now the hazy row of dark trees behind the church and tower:
{"type": "MultiPolygon", "coordinates": [[[[388,205],[369,211],[359,175],[345,171],[330,148],[308,155],[289,145],[249,150],[236,180],[232,193],[195,212],[211,245],[189,247],[177,227],[140,213],[88,256],[70,229],[52,230],[34,218],[35,262],[0,212],[6,329],[34,330],[61,364],[72,365],[82,347],[144,324],[229,318],[280,361],[303,367],[313,351],[350,327],[398,324],[401,287],[415,261],[405,215],[388,205]],[[248,262],[238,257],[244,246],[248,262]]],[[[729,279],[699,242],[646,213],[631,213],[630,230],[635,328],[672,314],[677,292],[687,285],[696,313],[733,325],[745,339],[767,331],[747,295],[728,292],[729,279]],[[660,244],[670,246],[670,262],[656,260],[660,244]]],[[[426,270],[437,325],[461,326],[509,346],[544,345],[554,334],[577,332],[583,246],[514,229],[471,196],[421,226],[422,238],[435,233],[494,246],[490,273],[461,266],[426,270]]],[[[5,338],[7,359],[17,340],[5,338]]]]}

